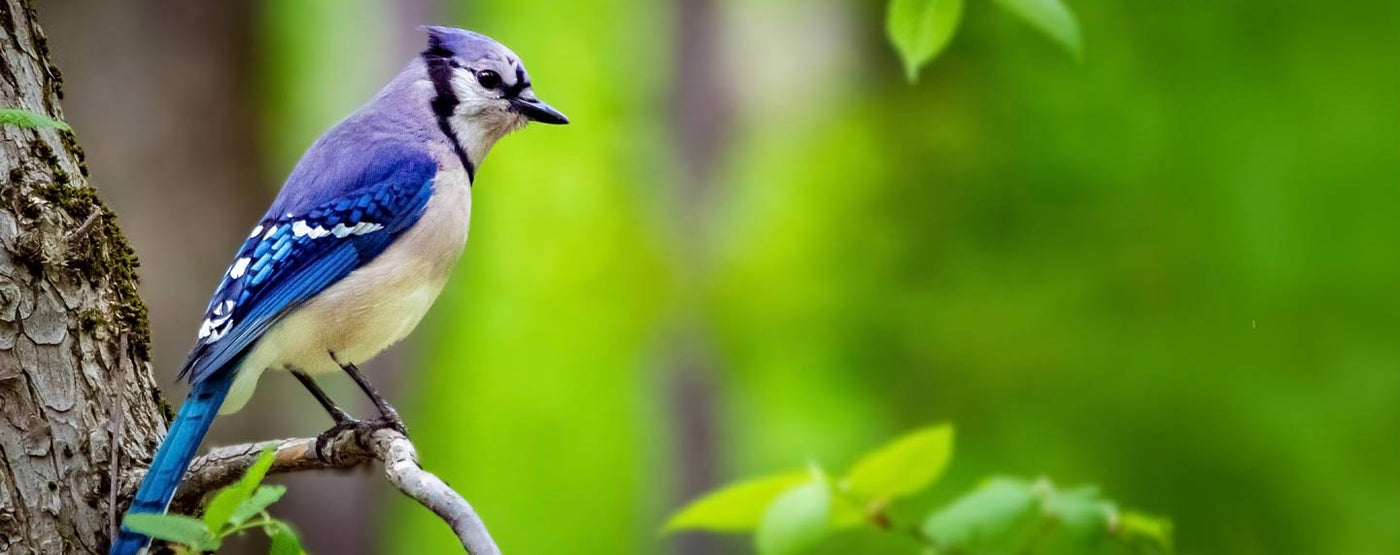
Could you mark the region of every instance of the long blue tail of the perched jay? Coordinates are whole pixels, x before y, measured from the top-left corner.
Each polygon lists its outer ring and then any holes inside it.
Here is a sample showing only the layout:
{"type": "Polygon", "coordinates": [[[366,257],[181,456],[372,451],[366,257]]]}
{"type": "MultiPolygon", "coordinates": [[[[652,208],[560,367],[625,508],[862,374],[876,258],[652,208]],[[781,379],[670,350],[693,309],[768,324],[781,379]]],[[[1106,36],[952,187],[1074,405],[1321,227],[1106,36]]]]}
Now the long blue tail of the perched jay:
{"type": "MultiPolygon", "coordinates": [[[[169,506],[175,496],[175,488],[179,486],[185,470],[195,458],[195,451],[199,450],[204,433],[209,432],[214,416],[218,415],[218,406],[224,404],[224,397],[228,395],[228,388],[234,383],[232,371],[224,374],[200,381],[190,390],[185,404],[179,406],[175,420],[171,422],[169,433],[161,441],[161,448],[155,451],[155,460],[151,461],[151,468],[141,479],[141,488],[136,491],[127,514],[164,513],[165,507],[169,506]]],[[[136,555],[150,541],[151,538],[126,530],[123,526],[122,534],[112,541],[112,549],[108,551],[108,555],[136,555]]]]}

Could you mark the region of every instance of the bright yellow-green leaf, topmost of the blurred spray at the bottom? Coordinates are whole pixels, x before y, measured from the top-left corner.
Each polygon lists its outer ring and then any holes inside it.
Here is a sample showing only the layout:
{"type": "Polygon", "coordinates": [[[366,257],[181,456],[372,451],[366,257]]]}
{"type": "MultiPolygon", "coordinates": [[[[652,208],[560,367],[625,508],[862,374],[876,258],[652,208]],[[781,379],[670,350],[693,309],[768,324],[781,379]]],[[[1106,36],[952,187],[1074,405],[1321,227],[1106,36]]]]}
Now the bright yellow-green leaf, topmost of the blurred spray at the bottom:
{"type": "Polygon", "coordinates": [[[907,496],[934,484],[952,454],[952,425],[925,427],[861,457],[846,474],[844,485],[868,500],[907,496]]]}

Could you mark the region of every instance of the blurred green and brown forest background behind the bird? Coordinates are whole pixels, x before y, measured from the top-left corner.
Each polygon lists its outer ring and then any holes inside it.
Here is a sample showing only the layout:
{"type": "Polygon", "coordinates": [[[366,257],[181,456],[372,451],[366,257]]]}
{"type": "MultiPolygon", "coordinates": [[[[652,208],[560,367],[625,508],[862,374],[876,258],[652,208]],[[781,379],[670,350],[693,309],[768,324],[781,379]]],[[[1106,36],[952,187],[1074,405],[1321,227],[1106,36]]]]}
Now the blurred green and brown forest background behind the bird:
{"type": "MultiPolygon", "coordinates": [[[[743,552],[658,530],[937,420],[939,499],[1044,474],[1187,554],[1400,552],[1394,1],[1072,1],[1075,63],[969,0],[917,84],[881,1],[39,4],[165,384],[417,24],[524,57],[573,125],[497,146],[458,278],[375,369],[507,552],[743,552]]],[[[325,427],[293,384],[216,432],[325,427]]],[[[374,481],[297,484],[283,516],[318,552],[454,549],[374,481]]]]}

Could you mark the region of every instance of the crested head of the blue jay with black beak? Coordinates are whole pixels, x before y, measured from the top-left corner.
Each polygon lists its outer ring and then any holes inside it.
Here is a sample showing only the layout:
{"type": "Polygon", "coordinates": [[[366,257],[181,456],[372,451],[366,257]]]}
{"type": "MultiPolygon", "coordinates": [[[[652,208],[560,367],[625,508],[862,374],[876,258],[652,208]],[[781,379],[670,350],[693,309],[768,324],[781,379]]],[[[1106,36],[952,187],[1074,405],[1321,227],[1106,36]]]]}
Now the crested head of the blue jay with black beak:
{"type": "Polygon", "coordinates": [[[466,29],[424,27],[427,78],[437,94],[433,111],[498,139],[529,122],[568,123],[568,118],[535,97],[525,64],[500,42],[466,29]]]}

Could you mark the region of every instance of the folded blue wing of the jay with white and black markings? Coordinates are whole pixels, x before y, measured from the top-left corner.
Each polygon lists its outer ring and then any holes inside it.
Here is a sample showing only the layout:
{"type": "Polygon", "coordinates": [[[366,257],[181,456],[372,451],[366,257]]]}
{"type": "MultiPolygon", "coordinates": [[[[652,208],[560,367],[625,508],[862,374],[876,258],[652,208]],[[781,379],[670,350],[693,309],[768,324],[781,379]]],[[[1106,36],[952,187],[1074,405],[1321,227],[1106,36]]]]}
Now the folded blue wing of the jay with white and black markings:
{"type": "Polygon", "coordinates": [[[437,163],[423,151],[377,154],[323,171],[304,161],[293,172],[224,273],[181,377],[197,384],[230,371],[288,311],[417,223],[437,163]]]}

